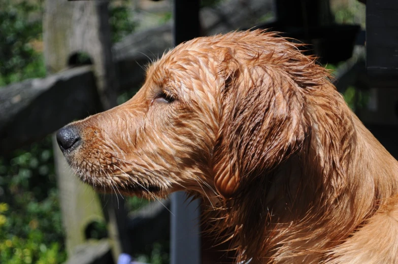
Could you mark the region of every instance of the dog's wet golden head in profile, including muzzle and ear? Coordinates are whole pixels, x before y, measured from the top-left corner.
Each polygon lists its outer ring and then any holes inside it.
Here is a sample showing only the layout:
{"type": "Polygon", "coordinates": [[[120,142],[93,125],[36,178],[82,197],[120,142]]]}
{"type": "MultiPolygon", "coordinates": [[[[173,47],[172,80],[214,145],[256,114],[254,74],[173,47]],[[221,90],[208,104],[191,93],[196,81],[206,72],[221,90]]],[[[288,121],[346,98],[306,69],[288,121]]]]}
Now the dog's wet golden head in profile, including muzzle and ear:
{"type": "Polygon", "coordinates": [[[129,101],[65,126],[57,140],[97,190],[229,198],[300,149],[306,91],[326,75],[272,33],[202,37],[153,63],[129,101]]]}

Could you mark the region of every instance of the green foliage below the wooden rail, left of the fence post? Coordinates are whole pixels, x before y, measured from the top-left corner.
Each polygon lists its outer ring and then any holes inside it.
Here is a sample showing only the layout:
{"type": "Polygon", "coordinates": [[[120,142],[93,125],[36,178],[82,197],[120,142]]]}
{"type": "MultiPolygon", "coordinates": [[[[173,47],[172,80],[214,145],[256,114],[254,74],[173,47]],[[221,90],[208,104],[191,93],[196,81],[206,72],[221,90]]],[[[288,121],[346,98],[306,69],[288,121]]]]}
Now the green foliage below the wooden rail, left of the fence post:
{"type": "Polygon", "coordinates": [[[51,138],[0,158],[0,263],[66,259],[51,138]]]}

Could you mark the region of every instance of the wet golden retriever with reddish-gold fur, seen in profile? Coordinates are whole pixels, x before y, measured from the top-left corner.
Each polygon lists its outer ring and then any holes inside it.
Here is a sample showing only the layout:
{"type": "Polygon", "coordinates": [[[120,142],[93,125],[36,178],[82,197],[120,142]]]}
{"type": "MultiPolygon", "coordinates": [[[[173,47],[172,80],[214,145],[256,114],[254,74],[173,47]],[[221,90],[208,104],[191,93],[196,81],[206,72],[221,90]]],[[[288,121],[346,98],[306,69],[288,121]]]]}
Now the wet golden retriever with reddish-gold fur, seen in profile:
{"type": "Polygon", "coordinates": [[[398,162],[275,33],[183,43],[129,101],[57,140],[96,190],[202,197],[236,263],[398,263],[398,162]]]}

